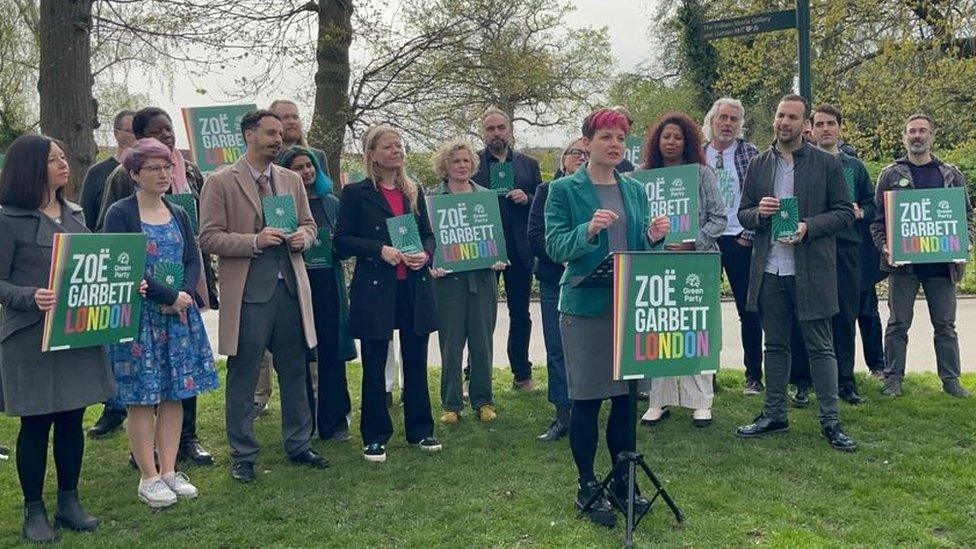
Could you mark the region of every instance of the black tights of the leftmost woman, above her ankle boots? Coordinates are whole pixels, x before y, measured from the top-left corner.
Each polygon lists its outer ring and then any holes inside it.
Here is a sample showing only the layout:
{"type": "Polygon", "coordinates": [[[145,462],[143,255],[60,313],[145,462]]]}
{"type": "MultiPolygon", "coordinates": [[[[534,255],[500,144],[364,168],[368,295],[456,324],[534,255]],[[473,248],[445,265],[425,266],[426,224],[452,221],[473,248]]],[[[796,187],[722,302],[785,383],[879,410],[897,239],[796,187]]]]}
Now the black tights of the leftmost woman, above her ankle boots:
{"type": "Polygon", "coordinates": [[[20,418],[17,434],[17,475],[24,501],[41,501],[44,473],[47,470],[47,441],[54,426],[54,464],[58,469],[58,490],[78,488],[81,456],[85,453],[85,434],[81,420],[85,409],[20,418]]]}

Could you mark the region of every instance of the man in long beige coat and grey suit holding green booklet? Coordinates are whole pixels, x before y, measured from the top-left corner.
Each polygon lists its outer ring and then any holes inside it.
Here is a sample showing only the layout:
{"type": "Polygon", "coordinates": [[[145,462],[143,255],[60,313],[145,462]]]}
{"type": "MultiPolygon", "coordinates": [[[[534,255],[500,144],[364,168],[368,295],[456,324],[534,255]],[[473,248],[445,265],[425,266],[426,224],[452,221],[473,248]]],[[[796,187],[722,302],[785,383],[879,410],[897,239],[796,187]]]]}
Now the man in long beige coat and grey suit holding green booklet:
{"type": "Polygon", "coordinates": [[[264,110],[248,113],[241,119],[241,133],[247,153],[204,186],[200,248],[220,259],[218,348],[229,357],[231,476],[249,482],[260,449],[254,436],[254,388],[265,351],[271,351],[278,372],[285,451],[294,463],[325,468],[328,462],[310,447],[306,393],[306,351],[316,339],[302,252],[315,240],[315,221],[299,176],[274,164],[281,149],[278,117],[264,110]],[[265,224],[262,201],[272,195],[294,197],[298,230],[286,234],[265,224]]]}

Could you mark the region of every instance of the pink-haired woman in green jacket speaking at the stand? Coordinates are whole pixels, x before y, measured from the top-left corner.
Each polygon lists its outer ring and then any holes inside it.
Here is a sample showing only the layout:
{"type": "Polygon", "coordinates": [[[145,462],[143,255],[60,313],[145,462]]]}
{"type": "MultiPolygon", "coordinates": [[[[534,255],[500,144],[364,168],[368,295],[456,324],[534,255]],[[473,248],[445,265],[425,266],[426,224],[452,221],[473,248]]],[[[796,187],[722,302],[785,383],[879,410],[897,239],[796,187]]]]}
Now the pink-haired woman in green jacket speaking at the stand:
{"type": "MultiPolygon", "coordinates": [[[[583,138],[590,161],[575,174],[550,184],[546,201],[546,252],[566,264],[560,280],[559,327],[566,357],[566,377],[572,400],[569,440],[579,472],[576,505],[582,506],[599,489],[593,463],[598,444],[600,406],[610,399],[607,449],[611,461],[632,450],[627,421],[627,384],[613,380],[613,306],[609,288],[576,288],[570,283],[585,276],[611,252],[646,250],[659,246],[669,229],[668,218],[647,222],[647,196],[637,181],[620,175],[614,166],[623,158],[630,123],[612,109],[601,109],[583,122],[583,138]]],[[[610,488],[627,500],[623,479],[610,488]]],[[[638,513],[649,506],[634,501],[638,513]]],[[[590,520],[613,526],[616,516],[606,498],[589,510],[590,520]]]]}

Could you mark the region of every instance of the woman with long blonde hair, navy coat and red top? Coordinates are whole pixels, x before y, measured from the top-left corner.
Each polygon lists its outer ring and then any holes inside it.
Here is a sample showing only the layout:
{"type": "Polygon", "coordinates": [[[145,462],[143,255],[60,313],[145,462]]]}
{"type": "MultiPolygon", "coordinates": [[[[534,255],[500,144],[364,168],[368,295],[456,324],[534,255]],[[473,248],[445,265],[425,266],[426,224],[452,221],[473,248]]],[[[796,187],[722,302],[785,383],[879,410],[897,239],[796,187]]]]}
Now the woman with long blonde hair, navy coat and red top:
{"type": "Polygon", "coordinates": [[[400,331],[407,442],[427,452],[441,449],[427,390],[427,343],[437,330],[427,270],[434,255],[434,233],[423,191],[407,177],[399,131],[387,125],[370,128],[363,136],[363,164],[366,178],[342,190],[333,244],[340,259],[356,258],[349,288],[349,332],[360,340],[363,355],[363,458],[383,462],[393,435],[384,370],[394,330],[400,331]],[[401,215],[415,218],[423,244],[420,252],[393,247],[386,221],[401,215]]]}

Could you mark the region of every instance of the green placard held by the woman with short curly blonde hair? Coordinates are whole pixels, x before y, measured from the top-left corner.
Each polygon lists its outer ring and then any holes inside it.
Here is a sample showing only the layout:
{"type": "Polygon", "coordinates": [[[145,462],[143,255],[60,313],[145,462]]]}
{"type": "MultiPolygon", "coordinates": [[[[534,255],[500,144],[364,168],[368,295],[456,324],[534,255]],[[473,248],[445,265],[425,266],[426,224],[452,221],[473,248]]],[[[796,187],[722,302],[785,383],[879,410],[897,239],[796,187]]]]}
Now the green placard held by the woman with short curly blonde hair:
{"type": "Polygon", "coordinates": [[[508,262],[501,211],[494,193],[429,195],[427,211],[437,239],[434,267],[460,272],[508,262]]]}

